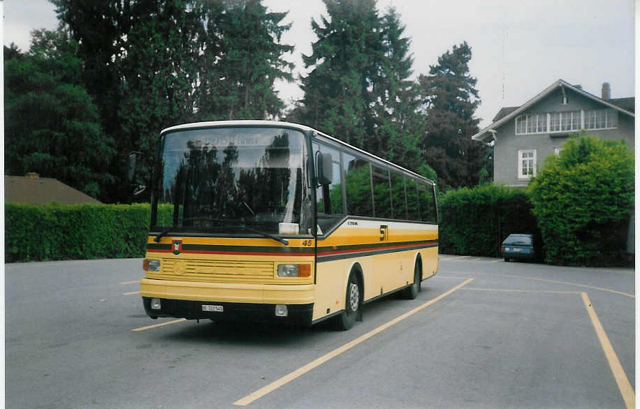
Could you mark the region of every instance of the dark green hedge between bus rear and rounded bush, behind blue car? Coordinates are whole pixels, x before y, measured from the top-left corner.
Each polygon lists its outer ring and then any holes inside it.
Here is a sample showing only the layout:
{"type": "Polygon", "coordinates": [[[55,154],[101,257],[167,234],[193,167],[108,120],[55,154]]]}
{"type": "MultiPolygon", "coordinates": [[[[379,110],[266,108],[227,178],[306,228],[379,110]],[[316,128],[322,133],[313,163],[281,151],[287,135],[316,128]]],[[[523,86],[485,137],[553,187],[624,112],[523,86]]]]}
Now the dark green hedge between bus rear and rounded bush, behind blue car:
{"type": "Polygon", "coordinates": [[[500,257],[511,233],[537,234],[524,189],[497,185],[460,188],[439,199],[439,252],[500,257]]]}

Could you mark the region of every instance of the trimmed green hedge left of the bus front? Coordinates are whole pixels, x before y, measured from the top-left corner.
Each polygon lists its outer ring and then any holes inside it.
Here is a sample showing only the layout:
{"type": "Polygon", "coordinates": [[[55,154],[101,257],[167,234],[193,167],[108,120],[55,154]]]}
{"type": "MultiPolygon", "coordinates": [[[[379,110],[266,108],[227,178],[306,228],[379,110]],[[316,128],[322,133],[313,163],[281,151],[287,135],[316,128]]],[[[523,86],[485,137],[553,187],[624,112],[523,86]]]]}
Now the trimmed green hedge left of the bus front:
{"type": "Polygon", "coordinates": [[[138,258],[150,206],[5,205],[5,261],[138,258]]]}

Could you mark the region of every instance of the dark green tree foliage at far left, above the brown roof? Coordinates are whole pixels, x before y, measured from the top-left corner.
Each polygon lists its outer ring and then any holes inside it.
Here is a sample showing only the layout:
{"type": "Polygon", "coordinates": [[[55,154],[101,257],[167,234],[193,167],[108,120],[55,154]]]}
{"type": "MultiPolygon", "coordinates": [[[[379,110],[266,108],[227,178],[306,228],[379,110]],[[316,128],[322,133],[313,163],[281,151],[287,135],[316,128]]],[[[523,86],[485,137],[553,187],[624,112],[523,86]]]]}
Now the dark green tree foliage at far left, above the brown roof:
{"type": "Polygon", "coordinates": [[[78,43],[64,30],[36,30],[27,54],[5,54],[5,173],[38,172],[103,198],[115,151],[80,80],[78,43]]]}

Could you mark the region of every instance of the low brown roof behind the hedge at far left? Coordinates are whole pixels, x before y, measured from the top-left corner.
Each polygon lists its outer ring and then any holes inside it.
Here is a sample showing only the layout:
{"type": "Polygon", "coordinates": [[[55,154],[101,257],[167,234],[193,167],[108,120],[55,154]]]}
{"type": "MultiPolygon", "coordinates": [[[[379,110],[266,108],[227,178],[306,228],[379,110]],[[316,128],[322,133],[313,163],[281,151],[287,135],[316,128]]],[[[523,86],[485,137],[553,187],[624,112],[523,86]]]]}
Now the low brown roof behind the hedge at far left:
{"type": "Polygon", "coordinates": [[[85,195],[85,193],[57,179],[48,177],[5,176],[4,200],[31,205],[43,205],[50,202],[64,205],[101,204],[91,196],[85,195]]]}

